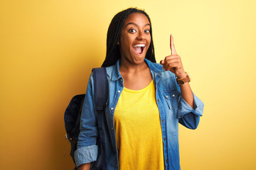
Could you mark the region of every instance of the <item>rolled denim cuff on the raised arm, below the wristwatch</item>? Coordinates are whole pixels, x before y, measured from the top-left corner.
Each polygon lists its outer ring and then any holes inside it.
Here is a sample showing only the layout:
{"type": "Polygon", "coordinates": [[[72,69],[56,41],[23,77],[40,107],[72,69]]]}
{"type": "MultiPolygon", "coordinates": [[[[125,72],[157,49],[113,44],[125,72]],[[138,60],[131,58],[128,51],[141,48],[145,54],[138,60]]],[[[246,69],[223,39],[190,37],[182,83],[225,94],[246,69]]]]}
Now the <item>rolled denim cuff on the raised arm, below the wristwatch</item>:
{"type": "Polygon", "coordinates": [[[178,118],[182,118],[183,115],[186,115],[187,113],[193,113],[195,115],[202,116],[203,115],[203,102],[195,95],[193,94],[194,99],[194,109],[191,108],[191,106],[186,103],[186,101],[180,96],[179,98],[179,107],[178,107],[178,118]]]}

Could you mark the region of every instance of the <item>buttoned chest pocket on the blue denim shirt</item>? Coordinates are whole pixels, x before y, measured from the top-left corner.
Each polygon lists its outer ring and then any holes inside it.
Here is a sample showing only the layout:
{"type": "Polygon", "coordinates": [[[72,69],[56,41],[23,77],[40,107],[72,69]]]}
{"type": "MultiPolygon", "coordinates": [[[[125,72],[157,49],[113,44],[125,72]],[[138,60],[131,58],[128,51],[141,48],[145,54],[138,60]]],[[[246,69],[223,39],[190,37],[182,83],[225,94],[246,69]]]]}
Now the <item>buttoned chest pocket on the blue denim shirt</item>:
{"type": "Polygon", "coordinates": [[[178,108],[178,91],[163,91],[163,95],[170,110],[178,108]]]}

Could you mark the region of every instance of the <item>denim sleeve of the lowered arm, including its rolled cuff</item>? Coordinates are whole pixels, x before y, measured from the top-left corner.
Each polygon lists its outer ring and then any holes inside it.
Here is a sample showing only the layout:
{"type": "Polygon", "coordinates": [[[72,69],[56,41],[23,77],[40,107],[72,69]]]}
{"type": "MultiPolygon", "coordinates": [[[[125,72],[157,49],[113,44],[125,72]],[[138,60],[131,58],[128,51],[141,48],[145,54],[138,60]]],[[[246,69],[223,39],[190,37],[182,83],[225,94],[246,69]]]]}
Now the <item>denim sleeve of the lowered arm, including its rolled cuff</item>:
{"type": "Polygon", "coordinates": [[[75,151],[75,164],[80,166],[97,160],[97,120],[93,98],[92,74],[87,85],[85,101],[82,105],[78,149],[75,151]]]}

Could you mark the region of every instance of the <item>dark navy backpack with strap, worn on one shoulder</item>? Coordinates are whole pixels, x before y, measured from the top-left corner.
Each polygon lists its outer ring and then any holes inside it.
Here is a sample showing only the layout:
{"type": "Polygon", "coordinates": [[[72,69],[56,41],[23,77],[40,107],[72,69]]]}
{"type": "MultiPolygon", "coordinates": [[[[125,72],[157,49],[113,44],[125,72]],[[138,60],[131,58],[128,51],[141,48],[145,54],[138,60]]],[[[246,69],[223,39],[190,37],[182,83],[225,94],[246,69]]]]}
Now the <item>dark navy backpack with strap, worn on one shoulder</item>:
{"type": "MultiPolygon", "coordinates": [[[[99,136],[97,137],[98,146],[98,155],[97,161],[91,162],[90,169],[107,169],[106,157],[105,157],[105,138],[104,131],[102,128],[102,122],[105,119],[105,107],[107,102],[107,72],[105,67],[92,69],[92,77],[94,81],[94,101],[97,110],[97,128],[99,130],[99,136]]],[[[64,122],[65,122],[65,130],[67,134],[65,135],[66,139],[71,144],[70,156],[74,159],[74,153],[77,149],[78,136],[80,133],[80,117],[82,113],[82,104],[85,100],[86,94],[79,94],[74,96],[68,107],[65,110],[64,114],[64,122]]],[[[76,166],[75,166],[75,169],[76,166]]]]}

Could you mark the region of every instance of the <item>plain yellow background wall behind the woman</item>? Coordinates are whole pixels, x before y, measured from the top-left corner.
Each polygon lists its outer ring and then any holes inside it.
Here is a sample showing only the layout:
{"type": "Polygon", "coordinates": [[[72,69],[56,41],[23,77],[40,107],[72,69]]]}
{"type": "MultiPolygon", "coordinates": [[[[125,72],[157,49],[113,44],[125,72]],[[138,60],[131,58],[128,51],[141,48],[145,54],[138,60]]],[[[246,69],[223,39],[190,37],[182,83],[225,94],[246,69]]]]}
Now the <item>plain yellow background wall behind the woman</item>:
{"type": "Polygon", "coordinates": [[[115,13],[144,8],[156,60],[169,35],[205,103],[180,126],[181,169],[256,169],[254,0],[0,2],[0,169],[73,169],[63,114],[100,67],[115,13]]]}

